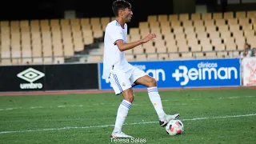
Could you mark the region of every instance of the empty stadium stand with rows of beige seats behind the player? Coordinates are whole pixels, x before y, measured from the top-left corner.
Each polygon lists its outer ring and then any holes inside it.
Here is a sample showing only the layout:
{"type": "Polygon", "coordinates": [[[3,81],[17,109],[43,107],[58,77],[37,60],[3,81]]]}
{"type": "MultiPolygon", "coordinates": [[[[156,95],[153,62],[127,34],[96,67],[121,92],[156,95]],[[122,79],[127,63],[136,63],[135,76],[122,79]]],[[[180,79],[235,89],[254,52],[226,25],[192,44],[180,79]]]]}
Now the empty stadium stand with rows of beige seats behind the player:
{"type": "MultiPolygon", "coordinates": [[[[100,45],[105,27],[114,18],[2,21],[1,65],[102,62],[100,45]],[[96,45],[95,45],[96,44],[96,45]],[[91,48],[98,48],[91,50],[91,48]]],[[[129,61],[187,58],[235,58],[245,43],[256,47],[256,11],[206,14],[150,15],[130,28],[129,41],[149,33],[154,41],[126,51],[129,61]]]]}

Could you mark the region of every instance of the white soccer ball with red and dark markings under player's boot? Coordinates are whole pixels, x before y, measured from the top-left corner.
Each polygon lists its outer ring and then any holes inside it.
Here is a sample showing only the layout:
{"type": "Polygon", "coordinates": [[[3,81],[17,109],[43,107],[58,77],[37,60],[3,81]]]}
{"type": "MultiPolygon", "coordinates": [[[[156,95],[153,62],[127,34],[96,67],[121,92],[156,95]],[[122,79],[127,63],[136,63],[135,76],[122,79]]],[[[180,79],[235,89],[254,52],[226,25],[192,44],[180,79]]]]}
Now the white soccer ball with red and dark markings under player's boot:
{"type": "Polygon", "coordinates": [[[170,120],[166,125],[166,133],[169,135],[182,134],[183,132],[184,126],[180,120],[170,120]]]}

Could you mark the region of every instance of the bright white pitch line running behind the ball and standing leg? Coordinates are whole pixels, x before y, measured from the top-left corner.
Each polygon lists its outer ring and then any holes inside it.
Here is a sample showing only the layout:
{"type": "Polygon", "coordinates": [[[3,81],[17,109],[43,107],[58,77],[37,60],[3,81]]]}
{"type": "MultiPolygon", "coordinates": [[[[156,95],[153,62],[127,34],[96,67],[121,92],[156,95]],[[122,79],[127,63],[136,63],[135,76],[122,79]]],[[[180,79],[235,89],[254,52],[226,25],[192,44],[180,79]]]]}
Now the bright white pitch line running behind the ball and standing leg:
{"type": "MultiPolygon", "coordinates": [[[[181,121],[196,121],[196,120],[219,119],[219,118],[240,118],[240,117],[250,117],[250,116],[256,116],[256,114],[227,115],[227,116],[206,117],[206,118],[191,118],[191,119],[181,119],[181,121]]],[[[126,123],[124,125],[140,125],[140,124],[150,124],[150,123],[158,123],[158,122],[134,122],[134,123],[126,123]]],[[[26,132],[50,131],[50,130],[90,129],[90,128],[110,127],[110,126],[114,126],[114,125],[82,126],[82,127],[62,127],[62,128],[38,129],[38,130],[0,131],[0,134],[26,133],[26,132]]]]}

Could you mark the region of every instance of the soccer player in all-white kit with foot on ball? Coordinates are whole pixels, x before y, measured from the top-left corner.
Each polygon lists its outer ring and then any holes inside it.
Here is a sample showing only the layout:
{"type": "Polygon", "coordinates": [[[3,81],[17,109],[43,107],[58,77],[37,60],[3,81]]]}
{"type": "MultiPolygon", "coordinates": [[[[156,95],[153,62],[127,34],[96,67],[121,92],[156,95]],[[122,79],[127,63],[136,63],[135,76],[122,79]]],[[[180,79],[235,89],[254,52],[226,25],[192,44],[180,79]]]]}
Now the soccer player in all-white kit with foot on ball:
{"type": "Polygon", "coordinates": [[[150,102],[152,102],[158,114],[161,126],[166,126],[170,120],[177,119],[179,114],[167,115],[165,113],[160,95],[158,94],[156,80],[147,75],[143,70],[130,65],[125,58],[126,50],[136,49],[136,46],[153,40],[156,38],[156,34],[148,34],[145,38],[136,42],[127,42],[126,22],[130,22],[133,16],[131,5],[124,0],[116,0],[112,4],[112,10],[116,20],[108,23],[106,26],[102,78],[110,80],[115,94],[122,94],[123,100],[118,107],[114,130],[110,137],[132,138],[130,135],[122,132],[122,125],[134,100],[133,86],[143,85],[147,87],[150,102]]]}

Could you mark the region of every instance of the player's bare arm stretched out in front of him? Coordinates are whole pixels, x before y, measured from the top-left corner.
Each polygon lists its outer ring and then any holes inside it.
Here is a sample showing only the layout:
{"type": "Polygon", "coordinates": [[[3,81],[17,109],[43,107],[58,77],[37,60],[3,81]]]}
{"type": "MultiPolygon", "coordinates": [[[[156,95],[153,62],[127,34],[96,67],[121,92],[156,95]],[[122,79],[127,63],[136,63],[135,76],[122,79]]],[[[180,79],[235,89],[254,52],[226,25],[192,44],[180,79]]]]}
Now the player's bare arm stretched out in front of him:
{"type": "Polygon", "coordinates": [[[118,46],[118,49],[120,51],[125,51],[125,50],[130,50],[138,45],[141,45],[142,43],[149,42],[154,38],[156,38],[156,34],[148,34],[145,38],[135,42],[124,43],[123,40],[118,40],[114,44],[118,46]]]}

